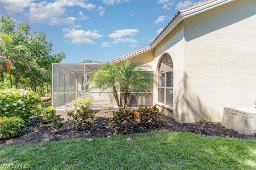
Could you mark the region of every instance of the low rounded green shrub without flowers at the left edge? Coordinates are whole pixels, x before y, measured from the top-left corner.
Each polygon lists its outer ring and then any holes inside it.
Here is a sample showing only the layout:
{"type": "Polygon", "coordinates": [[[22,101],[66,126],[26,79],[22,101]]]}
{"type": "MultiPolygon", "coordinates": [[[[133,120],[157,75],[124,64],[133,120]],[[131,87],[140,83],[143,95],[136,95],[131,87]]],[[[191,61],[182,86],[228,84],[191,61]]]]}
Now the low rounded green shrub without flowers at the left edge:
{"type": "Polygon", "coordinates": [[[25,129],[24,120],[19,117],[0,117],[0,138],[19,136],[25,129]]]}

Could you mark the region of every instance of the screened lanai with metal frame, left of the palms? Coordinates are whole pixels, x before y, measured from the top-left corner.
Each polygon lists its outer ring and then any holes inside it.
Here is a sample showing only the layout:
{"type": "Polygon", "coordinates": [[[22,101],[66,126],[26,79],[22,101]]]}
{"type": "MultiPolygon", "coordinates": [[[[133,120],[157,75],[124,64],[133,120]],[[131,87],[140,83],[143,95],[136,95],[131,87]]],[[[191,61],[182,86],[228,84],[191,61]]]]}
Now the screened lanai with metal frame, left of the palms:
{"type": "Polygon", "coordinates": [[[78,97],[92,97],[94,108],[113,108],[114,100],[107,92],[100,89],[84,87],[92,75],[89,73],[99,69],[98,63],[52,63],[52,106],[57,109],[71,109],[72,101],[78,97]]]}

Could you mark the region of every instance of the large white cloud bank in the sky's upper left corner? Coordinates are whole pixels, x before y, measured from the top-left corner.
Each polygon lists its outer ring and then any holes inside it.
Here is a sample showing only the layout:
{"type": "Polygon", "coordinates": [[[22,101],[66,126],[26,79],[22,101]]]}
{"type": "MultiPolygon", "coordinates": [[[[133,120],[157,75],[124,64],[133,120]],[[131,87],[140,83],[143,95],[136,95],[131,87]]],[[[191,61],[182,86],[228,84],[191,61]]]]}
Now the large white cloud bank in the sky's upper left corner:
{"type": "MultiPolygon", "coordinates": [[[[51,25],[62,25],[62,23],[74,24],[74,17],[64,16],[66,7],[79,6],[86,10],[91,10],[96,7],[94,4],[86,4],[85,1],[78,0],[1,0],[1,5],[4,6],[10,14],[23,13],[24,15],[28,15],[29,22],[47,22],[51,25]]],[[[82,16],[82,18],[79,19],[85,20],[88,19],[88,17],[82,16]]]]}

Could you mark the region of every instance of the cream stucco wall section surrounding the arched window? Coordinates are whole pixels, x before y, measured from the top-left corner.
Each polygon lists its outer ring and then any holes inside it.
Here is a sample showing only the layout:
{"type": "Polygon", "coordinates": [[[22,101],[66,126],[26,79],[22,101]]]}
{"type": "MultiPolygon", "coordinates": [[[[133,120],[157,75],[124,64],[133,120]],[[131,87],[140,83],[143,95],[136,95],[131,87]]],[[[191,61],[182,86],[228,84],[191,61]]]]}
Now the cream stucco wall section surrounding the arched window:
{"type": "Polygon", "coordinates": [[[183,91],[183,70],[184,70],[184,30],[183,23],[180,23],[177,28],[175,28],[166,38],[160,42],[154,48],[154,71],[158,73],[158,67],[160,60],[165,53],[169,53],[172,57],[173,69],[174,69],[174,84],[173,84],[173,94],[174,94],[174,107],[168,107],[157,102],[158,89],[154,89],[154,103],[158,105],[158,108],[164,115],[167,115],[176,121],[182,119],[182,115],[179,114],[174,108],[179,105],[178,97],[182,95],[183,91]]]}

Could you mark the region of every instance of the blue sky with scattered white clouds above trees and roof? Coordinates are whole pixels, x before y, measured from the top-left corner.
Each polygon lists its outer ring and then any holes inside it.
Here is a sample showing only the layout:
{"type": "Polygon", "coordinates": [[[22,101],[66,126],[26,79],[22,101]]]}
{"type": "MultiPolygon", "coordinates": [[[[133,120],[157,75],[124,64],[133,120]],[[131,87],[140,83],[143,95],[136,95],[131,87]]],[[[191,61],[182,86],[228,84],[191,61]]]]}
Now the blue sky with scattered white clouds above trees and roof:
{"type": "Polygon", "coordinates": [[[147,45],[178,10],[205,0],[1,0],[0,14],[42,31],[62,63],[107,62],[147,45]]]}

